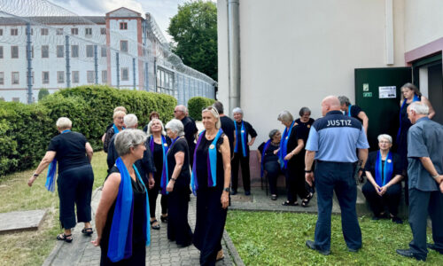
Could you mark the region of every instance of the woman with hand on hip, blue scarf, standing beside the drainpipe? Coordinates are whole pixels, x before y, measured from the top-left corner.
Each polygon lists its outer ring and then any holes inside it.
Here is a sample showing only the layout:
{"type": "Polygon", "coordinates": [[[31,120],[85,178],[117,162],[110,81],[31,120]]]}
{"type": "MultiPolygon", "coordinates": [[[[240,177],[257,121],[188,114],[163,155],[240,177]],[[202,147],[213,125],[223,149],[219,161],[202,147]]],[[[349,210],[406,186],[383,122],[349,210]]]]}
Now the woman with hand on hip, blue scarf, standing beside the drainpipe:
{"type": "Polygon", "coordinates": [[[234,116],[234,126],[236,140],[234,142],[234,156],[231,160],[232,165],[232,195],[237,194],[238,186],[238,166],[242,166],[242,179],[245,195],[251,195],[251,177],[249,174],[249,146],[253,145],[257,132],[253,126],[243,120],[243,110],[239,107],[232,110],[234,116]],[[251,141],[248,141],[251,136],[251,141]]]}

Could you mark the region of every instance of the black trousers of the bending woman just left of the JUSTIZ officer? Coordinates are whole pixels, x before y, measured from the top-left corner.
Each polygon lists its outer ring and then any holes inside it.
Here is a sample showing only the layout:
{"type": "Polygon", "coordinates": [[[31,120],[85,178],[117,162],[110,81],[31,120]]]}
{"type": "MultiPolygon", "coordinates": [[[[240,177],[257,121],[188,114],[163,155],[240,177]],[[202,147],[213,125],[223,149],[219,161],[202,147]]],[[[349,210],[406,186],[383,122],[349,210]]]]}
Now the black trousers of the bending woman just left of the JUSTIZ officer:
{"type": "Polygon", "coordinates": [[[289,202],[297,201],[297,195],[300,199],[307,197],[305,185],[305,163],[301,163],[299,158],[293,158],[288,161],[288,166],[284,169],[286,177],[286,191],[289,202]]]}

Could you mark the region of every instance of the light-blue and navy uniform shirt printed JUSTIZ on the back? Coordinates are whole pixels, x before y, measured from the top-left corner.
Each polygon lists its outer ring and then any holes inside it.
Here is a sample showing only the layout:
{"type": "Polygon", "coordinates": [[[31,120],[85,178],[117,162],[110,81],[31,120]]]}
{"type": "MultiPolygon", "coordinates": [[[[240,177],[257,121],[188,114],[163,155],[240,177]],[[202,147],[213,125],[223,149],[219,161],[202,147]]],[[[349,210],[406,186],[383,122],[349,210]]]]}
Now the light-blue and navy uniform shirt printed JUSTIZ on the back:
{"type": "Polygon", "coordinates": [[[316,152],[316,160],[355,162],[355,149],[368,149],[368,139],[361,122],[340,111],[330,111],[314,122],[306,150],[316,152]]]}

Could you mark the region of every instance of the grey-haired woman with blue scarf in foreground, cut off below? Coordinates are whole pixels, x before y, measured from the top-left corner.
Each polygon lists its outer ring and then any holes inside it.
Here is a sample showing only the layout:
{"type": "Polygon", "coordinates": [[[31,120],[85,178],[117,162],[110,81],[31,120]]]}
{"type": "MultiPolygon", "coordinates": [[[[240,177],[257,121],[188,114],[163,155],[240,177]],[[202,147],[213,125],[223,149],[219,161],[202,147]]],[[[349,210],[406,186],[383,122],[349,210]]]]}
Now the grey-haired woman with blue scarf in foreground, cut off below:
{"type": "Polygon", "coordinates": [[[93,244],[101,247],[100,265],[145,265],[151,233],[149,200],[134,164],[144,156],[145,140],[139,129],[123,130],[115,137],[120,157],[106,177],[96,214],[93,244]]]}

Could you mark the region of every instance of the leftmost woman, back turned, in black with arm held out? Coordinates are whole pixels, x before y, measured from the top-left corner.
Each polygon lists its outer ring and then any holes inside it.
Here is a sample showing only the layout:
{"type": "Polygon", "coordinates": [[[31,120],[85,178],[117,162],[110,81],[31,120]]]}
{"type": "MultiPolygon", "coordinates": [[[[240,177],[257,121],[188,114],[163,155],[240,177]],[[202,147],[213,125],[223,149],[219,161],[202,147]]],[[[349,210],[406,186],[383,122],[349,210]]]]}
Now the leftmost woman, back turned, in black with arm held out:
{"type": "Polygon", "coordinates": [[[60,134],[52,137],[48,151],[38,165],[34,175],[27,184],[32,186],[37,176],[48,167],[46,187],[54,191],[55,170],[58,162],[58,198],[60,200],[60,223],[65,229],[64,233],[57,236],[58,240],[72,242],[71,228],[75,227],[74,205],[77,206],[77,222],[84,223],[83,234],[91,235],[90,226],[90,199],[94,173],[90,166],[92,160],[92,147],[81,133],[71,131],[72,121],[60,117],[57,129],[60,134]]]}

